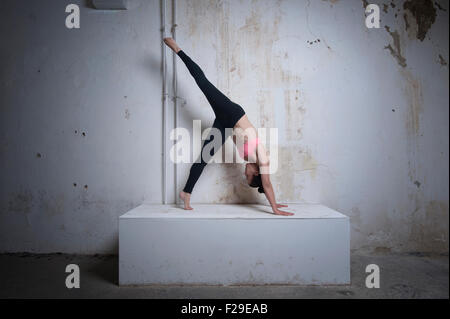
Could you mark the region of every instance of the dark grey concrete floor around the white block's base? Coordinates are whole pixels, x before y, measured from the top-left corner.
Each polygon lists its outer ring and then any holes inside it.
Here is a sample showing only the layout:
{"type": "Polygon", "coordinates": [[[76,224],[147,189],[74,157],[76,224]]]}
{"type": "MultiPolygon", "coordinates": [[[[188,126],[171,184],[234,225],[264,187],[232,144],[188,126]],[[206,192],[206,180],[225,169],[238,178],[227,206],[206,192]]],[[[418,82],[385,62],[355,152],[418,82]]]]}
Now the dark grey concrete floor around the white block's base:
{"type": "Polygon", "coordinates": [[[449,298],[448,254],[352,254],[348,286],[119,287],[116,256],[0,255],[0,298],[449,298]],[[77,264],[80,289],[67,289],[65,268],[77,264]],[[377,264],[381,287],[365,287],[377,264]]]}

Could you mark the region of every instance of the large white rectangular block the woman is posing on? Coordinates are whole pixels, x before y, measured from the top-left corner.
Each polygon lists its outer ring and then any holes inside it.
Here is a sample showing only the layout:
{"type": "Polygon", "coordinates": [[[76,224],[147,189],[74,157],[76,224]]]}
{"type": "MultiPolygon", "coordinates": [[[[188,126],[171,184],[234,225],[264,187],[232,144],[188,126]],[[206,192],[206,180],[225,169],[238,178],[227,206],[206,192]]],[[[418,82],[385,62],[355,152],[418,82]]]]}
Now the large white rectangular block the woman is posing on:
{"type": "Polygon", "coordinates": [[[319,204],[141,205],[119,219],[119,283],[350,283],[349,218],[319,204]]]}

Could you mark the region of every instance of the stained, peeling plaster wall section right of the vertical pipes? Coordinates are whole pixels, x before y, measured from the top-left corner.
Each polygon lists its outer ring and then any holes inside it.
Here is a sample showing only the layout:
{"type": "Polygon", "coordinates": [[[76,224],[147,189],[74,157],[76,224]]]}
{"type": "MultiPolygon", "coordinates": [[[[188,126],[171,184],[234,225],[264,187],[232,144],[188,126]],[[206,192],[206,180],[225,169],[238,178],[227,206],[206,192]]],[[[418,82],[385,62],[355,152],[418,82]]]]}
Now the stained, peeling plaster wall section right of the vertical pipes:
{"type": "MultiPolygon", "coordinates": [[[[179,43],[257,127],[279,129],[280,201],[349,215],[354,249],[448,251],[448,2],[370,3],[380,29],[359,0],[182,1],[179,43]]],[[[211,125],[182,63],[179,78],[185,125],[211,125]]],[[[242,174],[210,165],[193,201],[265,202],[242,174]]]]}

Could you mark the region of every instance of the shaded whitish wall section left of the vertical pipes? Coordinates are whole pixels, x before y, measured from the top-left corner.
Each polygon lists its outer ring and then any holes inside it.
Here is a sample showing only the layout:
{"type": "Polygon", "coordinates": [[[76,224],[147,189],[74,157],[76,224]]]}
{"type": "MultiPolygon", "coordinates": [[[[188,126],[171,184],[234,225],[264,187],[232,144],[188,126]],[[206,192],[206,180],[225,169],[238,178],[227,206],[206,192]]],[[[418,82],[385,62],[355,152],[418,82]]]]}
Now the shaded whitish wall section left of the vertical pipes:
{"type": "Polygon", "coordinates": [[[116,252],[118,216],[161,202],[160,6],[130,4],[0,1],[0,251],[116,252]]]}

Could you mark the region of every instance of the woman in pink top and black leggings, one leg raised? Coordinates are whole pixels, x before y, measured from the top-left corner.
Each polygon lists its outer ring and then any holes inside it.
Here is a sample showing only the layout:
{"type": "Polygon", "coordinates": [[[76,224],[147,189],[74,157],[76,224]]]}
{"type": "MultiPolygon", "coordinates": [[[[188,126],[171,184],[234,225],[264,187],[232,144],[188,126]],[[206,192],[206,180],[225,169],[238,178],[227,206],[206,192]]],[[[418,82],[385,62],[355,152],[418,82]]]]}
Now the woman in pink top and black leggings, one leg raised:
{"type": "MultiPolygon", "coordinates": [[[[272,206],[272,210],[276,215],[291,216],[292,213],[280,210],[286,205],[277,204],[275,194],[273,192],[272,183],[269,175],[269,158],[263,145],[258,140],[255,127],[250,123],[244,110],[238,104],[232,102],[222,92],[220,92],[211,82],[208,81],[202,69],[189,58],[177,45],[172,38],[165,38],[164,43],[167,44],[186,64],[195,82],[205,94],[206,99],[216,115],[213,128],[220,131],[222,136],[221,145],[225,143],[225,128],[233,128],[233,141],[236,142],[236,136],[239,140],[243,140],[243,146],[238,146],[239,155],[249,163],[245,166],[245,176],[250,187],[258,188],[260,193],[264,193],[272,206]],[[245,133],[244,133],[245,132],[245,133]]],[[[203,149],[213,141],[214,137],[209,138],[203,144],[203,149]]],[[[180,192],[180,198],[184,201],[184,209],[191,210],[190,199],[195,183],[207,165],[203,159],[203,149],[200,155],[200,162],[194,163],[191,167],[189,178],[183,191],[180,192]]],[[[210,152],[214,155],[215,148],[210,152]]]]}

